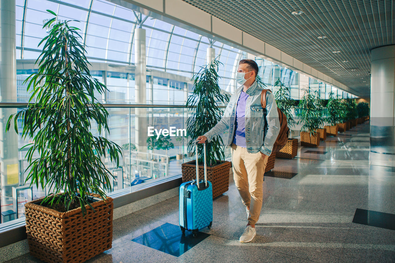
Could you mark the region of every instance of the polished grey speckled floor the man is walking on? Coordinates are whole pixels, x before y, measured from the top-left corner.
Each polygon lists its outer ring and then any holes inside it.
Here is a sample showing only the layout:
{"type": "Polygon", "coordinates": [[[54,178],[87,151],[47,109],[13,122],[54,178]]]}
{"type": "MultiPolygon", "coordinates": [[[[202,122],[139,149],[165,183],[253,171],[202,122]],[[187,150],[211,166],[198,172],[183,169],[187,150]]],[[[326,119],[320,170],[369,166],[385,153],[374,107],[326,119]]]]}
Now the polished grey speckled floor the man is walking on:
{"type": "MultiPolygon", "coordinates": [[[[115,220],[113,248],[88,262],[395,262],[394,230],[352,223],[357,208],[395,214],[395,158],[371,159],[369,123],[348,134],[328,137],[318,148],[299,148],[293,160],[276,159],[273,171],[296,175],[265,177],[257,235],[250,243],[238,241],[246,212],[231,180],[229,191],[214,200],[213,226],[202,231],[209,236],[179,257],[132,241],[168,228],[166,223],[178,226],[174,197],[115,220]]],[[[176,234],[169,239],[179,242],[176,234]]],[[[26,254],[9,262],[40,261],[26,254]]]]}

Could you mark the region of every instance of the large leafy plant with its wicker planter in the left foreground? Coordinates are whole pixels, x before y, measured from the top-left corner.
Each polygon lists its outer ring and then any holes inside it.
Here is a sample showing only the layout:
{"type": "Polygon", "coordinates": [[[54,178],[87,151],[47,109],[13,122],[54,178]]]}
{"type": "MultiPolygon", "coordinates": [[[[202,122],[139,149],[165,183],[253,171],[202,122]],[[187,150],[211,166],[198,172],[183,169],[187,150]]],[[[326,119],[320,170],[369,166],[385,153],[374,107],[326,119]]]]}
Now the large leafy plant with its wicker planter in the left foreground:
{"type": "Polygon", "coordinates": [[[17,132],[22,122],[22,137],[34,138],[26,145],[26,181],[53,190],[25,205],[30,254],[46,262],[83,262],[111,248],[113,199],[105,191],[112,175],[101,157],[118,165],[122,152],[91,133],[93,123],[99,134],[109,132],[108,112],[94,97],[107,88],[89,73],[79,29],[47,11],[55,17],[44,25],[51,29],[39,44],[38,72],[26,81],[36,100],[9,117],[7,130],[12,118],[17,132]]]}

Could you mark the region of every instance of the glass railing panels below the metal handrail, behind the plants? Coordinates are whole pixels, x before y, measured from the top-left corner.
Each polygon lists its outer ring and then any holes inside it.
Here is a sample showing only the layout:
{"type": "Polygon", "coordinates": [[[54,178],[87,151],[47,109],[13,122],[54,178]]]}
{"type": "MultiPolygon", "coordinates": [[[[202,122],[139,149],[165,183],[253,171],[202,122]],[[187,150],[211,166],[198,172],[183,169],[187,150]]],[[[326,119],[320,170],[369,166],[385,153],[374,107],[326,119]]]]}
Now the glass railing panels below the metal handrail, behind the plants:
{"type": "MultiPolygon", "coordinates": [[[[185,136],[186,120],[192,115],[194,109],[188,109],[184,105],[104,104],[104,106],[109,112],[107,119],[109,133],[105,132],[100,135],[122,148],[119,167],[107,157],[102,160],[113,175],[107,195],[119,195],[125,190],[131,191],[134,188],[152,184],[152,182],[160,183],[160,180],[167,177],[181,175],[181,164],[194,160],[194,152],[188,150],[187,144],[195,138],[185,136]],[[160,135],[158,137],[160,129],[162,131],[167,129],[170,135],[175,136],[160,135]],[[149,131],[153,136],[148,136],[149,131]],[[162,143],[154,145],[150,143],[150,140],[158,141],[158,139],[162,140],[162,143]],[[171,144],[172,146],[166,147],[171,144]]],[[[0,110],[4,113],[8,111],[8,116],[25,107],[27,107],[26,103],[0,103],[0,110]]],[[[8,120],[8,116],[4,119],[8,120]]],[[[94,127],[93,124],[92,127],[94,127]]],[[[15,150],[17,156],[8,156],[8,159],[14,157],[16,160],[17,158],[17,166],[12,166],[17,176],[11,175],[8,170],[8,177],[2,177],[1,223],[24,217],[26,202],[52,192],[52,189],[30,186],[30,180],[26,181],[30,169],[25,158],[28,148],[23,147],[32,143],[33,140],[21,137],[21,122],[18,128],[19,134],[15,133],[13,126],[8,132],[9,141],[13,141],[17,147],[17,151],[15,150]]],[[[97,130],[92,129],[91,132],[93,135],[99,135],[97,130]]],[[[227,133],[222,135],[224,141],[227,136],[227,133]]],[[[225,156],[228,159],[230,150],[225,149],[225,156]]],[[[38,158],[38,154],[35,154],[34,158],[38,158]]],[[[11,166],[8,166],[8,169],[9,167],[11,166]]]]}

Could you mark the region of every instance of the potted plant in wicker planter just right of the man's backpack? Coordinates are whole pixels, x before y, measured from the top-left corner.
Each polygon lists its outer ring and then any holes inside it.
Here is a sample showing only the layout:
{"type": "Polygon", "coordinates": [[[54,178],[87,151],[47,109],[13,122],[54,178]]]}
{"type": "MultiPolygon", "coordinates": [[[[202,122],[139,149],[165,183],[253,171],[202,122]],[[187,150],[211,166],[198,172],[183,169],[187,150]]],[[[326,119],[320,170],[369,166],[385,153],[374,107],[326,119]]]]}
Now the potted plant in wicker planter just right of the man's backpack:
{"type": "MultiPolygon", "coordinates": [[[[284,85],[280,81],[280,78],[275,83],[274,98],[276,100],[277,107],[285,114],[287,117],[288,127],[295,127],[297,124],[293,119],[293,109],[295,105],[295,100],[291,98],[290,88],[284,85]]],[[[291,130],[291,134],[293,131],[291,130]]],[[[288,138],[288,141],[284,148],[276,152],[276,157],[292,159],[297,155],[297,144],[298,140],[296,138],[288,138]]]]}

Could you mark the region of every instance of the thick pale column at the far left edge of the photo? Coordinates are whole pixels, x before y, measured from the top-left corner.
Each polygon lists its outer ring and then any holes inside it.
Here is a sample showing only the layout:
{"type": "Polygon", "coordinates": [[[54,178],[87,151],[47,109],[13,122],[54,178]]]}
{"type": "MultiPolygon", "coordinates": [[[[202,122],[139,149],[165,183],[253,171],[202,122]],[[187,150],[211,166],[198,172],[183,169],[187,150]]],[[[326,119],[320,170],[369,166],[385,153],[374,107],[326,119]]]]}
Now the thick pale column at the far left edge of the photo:
{"type": "MultiPolygon", "coordinates": [[[[15,41],[15,0],[0,0],[0,100],[2,102],[17,100],[15,41]]],[[[11,187],[19,184],[18,135],[13,125],[6,133],[9,115],[16,112],[16,109],[0,109],[0,182],[2,195],[8,197],[12,196],[11,187]]]]}

